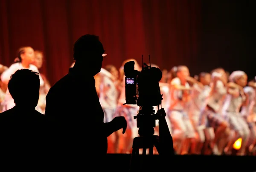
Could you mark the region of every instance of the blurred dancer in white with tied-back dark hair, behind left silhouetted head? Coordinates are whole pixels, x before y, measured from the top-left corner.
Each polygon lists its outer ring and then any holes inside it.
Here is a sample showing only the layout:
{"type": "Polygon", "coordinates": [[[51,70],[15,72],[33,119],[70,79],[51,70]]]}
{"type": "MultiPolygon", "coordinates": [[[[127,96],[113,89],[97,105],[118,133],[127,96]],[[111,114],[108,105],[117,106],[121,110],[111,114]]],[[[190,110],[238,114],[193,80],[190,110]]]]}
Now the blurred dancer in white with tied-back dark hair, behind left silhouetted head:
{"type": "MultiPolygon", "coordinates": [[[[15,59],[16,62],[12,64],[9,69],[5,70],[1,75],[1,80],[3,81],[3,83],[8,85],[11,75],[19,69],[29,69],[39,73],[38,68],[35,65],[32,65],[34,60],[35,60],[35,54],[34,54],[33,48],[29,46],[19,48],[17,51],[17,58],[15,59]]],[[[40,85],[44,86],[44,80],[42,79],[41,75],[39,75],[39,78],[40,78],[40,85]]],[[[6,96],[3,101],[3,112],[11,109],[14,106],[15,106],[15,102],[12,99],[12,96],[9,93],[9,90],[7,89],[6,96]]]]}

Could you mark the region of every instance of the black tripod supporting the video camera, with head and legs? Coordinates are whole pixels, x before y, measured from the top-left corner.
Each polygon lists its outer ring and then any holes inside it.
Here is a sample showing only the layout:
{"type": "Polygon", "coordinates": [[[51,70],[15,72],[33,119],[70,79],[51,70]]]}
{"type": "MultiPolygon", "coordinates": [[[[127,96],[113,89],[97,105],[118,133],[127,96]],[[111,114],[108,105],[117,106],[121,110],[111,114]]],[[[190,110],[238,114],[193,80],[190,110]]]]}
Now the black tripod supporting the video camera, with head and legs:
{"type": "MultiPolygon", "coordinates": [[[[149,149],[149,156],[153,155],[153,148],[156,147],[157,152],[160,156],[170,156],[174,155],[172,136],[169,132],[168,125],[165,120],[166,113],[164,109],[157,111],[157,114],[154,114],[153,107],[139,110],[137,116],[134,116],[134,119],[137,119],[137,127],[139,128],[139,137],[135,137],[132,145],[132,155],[131,155],[131,164],[130,170],[137,171],[140,167],[140,149],[143,149],[142,161],[145,160],[146,150],[149,149]],[[165,137],[154,135],[155,120],[159,119],[159,135],[160,131],[164,131],[165,137]],[[161,121],[160,121],[161,120],[161,121]],[[160,128],[161,124],[161,128],[160,128]],[[161,130],[160,130],[161,129],[161,130]],[[168,135],[169,133],[169,135],[168,135]]],[[[144,163],[144,162],[143,162],[144,163]]],[[[142,168],[145,170],[145,166],[142,168]]]]}

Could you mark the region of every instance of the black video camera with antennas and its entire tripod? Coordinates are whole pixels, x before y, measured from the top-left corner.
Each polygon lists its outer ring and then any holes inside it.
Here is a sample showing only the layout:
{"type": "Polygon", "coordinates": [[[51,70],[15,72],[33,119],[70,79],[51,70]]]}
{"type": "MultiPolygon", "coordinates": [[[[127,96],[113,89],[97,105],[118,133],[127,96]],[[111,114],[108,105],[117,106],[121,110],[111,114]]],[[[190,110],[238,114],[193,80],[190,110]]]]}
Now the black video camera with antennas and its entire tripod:
{"type": "MultiPolygon", "coordinates": [[[[149,66],[143,63],[142,70],[134,69],[135,62],[130,61],[124,65],[125,73],[125,104],[137,104],[140,110],[134,119],[137,119],[137,128],[139,128],[140,137],[135,137],[133,141],[132,155],[138,155],[139,149],[143,148],[143,155],[146,149],[153,155],[155,146],[159,155],[174,155],[172,135],[169,131],[165,116],[165,110],[161,105],[163,94],[160,92],[159,82],[162,79],[162,71],[159,68],[151,67],[150,56],[149,66]],[[154,107],[158,110],[155,113],[154,107]],[[159,136],[154,135],[156,119],[159,119],[159,136]],[[160,136],[161,135],[161,136],[160,136]]],[[[125,105],[123,104],[123,105],[125,105]]],[[[136,158],[131,158],[131,169],[136,158]]]]}

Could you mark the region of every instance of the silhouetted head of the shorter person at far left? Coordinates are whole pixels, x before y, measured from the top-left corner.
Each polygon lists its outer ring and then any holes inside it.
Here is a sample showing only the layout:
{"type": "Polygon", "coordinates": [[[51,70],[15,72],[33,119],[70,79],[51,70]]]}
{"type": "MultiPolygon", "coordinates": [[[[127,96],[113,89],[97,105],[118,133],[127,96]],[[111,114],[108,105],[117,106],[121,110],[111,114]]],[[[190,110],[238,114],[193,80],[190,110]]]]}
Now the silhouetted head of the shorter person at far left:
{"type": "Polygon", "coordinates": [[[39,73],[29,69],[17,70],[8,83],[9,92],[16,106],[35,108],[38,104],[40,80],[39,73]]]}

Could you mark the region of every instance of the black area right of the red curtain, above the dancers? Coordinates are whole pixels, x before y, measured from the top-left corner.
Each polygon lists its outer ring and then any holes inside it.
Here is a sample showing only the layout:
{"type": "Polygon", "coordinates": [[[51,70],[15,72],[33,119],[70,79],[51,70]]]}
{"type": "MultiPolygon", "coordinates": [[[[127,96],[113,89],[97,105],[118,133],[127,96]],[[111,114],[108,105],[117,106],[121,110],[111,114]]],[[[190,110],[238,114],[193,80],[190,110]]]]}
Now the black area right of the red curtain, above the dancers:
{"type": "Polygon", "coordinates": [[[219,66],[229,72],[243,70],[253,79],[256,76],[255,1],[205,0],[202,3],[201,51],[195,72],[219,66]]]}

